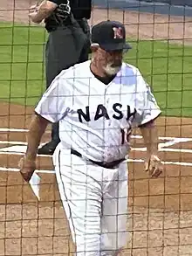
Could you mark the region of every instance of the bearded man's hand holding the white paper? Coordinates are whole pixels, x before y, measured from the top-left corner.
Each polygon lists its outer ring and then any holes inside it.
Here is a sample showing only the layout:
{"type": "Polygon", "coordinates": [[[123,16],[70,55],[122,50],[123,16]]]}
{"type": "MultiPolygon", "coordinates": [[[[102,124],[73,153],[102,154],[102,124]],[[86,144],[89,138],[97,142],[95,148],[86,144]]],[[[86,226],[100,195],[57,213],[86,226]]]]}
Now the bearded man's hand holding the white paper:
{"type": "Polygon", "coordinates": [[[27,156],[24,156],[20,159],[18,167],[25,182],[29,183],[33,172],[36,170],[36,161],[27,158],[27,156]]]}

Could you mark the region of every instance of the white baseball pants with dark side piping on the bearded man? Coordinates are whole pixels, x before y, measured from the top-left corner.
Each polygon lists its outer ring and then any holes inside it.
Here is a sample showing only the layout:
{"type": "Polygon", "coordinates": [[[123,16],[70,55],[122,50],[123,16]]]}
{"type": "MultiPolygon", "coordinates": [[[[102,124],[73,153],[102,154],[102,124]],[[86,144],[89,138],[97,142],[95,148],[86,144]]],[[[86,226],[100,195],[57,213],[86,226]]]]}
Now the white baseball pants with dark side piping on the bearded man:
{"type": "Polygon", "coordinates": [[[127,243],[127,163],[104,169],[59,146],[53,163],[76,255],[119,253],[127,243]]]}

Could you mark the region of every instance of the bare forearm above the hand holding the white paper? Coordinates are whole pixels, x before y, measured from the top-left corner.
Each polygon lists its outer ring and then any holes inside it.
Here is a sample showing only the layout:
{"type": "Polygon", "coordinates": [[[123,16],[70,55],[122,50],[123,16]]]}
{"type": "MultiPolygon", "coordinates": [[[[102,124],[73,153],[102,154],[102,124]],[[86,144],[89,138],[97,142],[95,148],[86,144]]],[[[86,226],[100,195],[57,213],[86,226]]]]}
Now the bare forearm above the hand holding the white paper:
{"type": "Polygon", "coordinates": [[[41,141],[42,135],[45,133],[45,128],[48,121],[39,115],[35,115],[31,121],[29,132],[27,135],[27,150],[26,156],[28,159],[34,160],[37,156],[38,146],[41,141]]]}

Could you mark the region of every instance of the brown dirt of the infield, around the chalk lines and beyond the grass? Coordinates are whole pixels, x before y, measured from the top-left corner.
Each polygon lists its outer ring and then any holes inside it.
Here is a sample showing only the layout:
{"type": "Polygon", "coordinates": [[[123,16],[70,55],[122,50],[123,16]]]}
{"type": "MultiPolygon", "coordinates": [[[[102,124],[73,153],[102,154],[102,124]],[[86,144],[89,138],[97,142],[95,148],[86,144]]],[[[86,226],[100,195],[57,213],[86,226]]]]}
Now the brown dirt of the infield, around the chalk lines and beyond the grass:
{"type": "MultiPolygon", "coordinates": [[[[13,21],[14,17],[28,23],[30,5],[24,0],[17,0],[15,5],[1,0],[0,19],[13,21]]],[[[109,17],[124,21],[130,37],[191,43],[191,24],[184,23],[183,17],[94,9],[90,23],[109,17]]],[[[39,174],[42,179],[38,202],[31,187],[13,171],[26,141],[26,132],[17,129],[28,128],[33,109],[7,103],[1,103],[0,109],[0,255],[68,255],[74,247],[54,174],[39,174]],[[16,148],[10,148],[13,146],[16,148]],[[3,171],[4,168],[8,171],[3,171]]],[[[135,133],[138,136],[132,140],[133,161],[128,163],[130,238],[125,255],[186,256],[192,252],[192,119],[161,117],[158,127],[160,142],[164,143],[161,159],[165,163],[160,178],[149,179],[142,170],[144,152],[139,134],[135,133]]],[[[49,131],[43,141],[48,137],[49,131]]],[[[38,170],[52,169],[50,157],[38,157],[38,170]]]]}

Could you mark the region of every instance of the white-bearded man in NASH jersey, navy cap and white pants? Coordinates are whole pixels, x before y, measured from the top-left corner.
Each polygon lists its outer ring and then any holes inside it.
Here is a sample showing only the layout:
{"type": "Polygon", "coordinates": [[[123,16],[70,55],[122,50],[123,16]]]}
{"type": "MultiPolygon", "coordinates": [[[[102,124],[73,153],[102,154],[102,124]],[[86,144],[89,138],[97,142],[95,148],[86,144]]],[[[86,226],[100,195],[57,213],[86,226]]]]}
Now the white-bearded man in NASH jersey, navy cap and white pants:
{"type": "MultiPolygon", "coordinates": [[[[77,256],[117,255],[127,243],[127,153],[132,128],[147,147],[144,170],[161,174],[154,120],[161,114],[140,71],[122,61],[123,24],[93,26],[92,59],[62,71],[39,101],[19,166],[29,182],[49,122],[59,121],[53,155],[58,190],[77,256]]],[[[65,242],[64,242],[65,244],[65,242]]]]}

